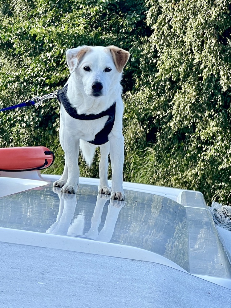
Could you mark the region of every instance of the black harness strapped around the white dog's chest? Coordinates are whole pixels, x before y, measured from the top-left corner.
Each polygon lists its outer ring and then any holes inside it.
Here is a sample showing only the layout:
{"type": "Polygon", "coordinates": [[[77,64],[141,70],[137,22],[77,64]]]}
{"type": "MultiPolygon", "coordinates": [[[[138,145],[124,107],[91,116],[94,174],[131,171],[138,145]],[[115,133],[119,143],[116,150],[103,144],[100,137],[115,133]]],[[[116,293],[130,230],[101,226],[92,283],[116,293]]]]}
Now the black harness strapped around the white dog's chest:
{"type": "Polygon", "coordinates": [[[107,122],[104,125],[104,128],[95,135],[95,139],[92,141],[88,141],[95,145],[101,145],[108,141],[108,135],[111,132],[114,122],[115,122],[115,103],[111,105],[107,110],[102,111],[99,114],[90,114],[90,115],[79,115],[74,107],[71,106],[69,99],[67,98],[67,86],[57,92],[57,99],[60,103],[62,103],[63,107],[67,111],[67,113],[75,119],[78,120],[96,120],[100,119],[105,115],[108,115],[107,122]]]}

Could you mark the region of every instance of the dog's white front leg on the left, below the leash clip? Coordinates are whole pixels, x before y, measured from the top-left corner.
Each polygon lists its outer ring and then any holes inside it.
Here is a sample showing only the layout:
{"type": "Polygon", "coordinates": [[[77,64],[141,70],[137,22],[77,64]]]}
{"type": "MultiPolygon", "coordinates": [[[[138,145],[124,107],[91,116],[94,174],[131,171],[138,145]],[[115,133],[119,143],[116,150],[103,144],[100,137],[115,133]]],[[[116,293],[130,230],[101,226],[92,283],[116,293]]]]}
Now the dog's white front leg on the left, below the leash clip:
{"type": "Polygon", "coordinates": [[[67,166],[67,182],[61,193],[75,194],[79,188],[79,140],[67,138],[65,142],[65,165],[67,166]]]}

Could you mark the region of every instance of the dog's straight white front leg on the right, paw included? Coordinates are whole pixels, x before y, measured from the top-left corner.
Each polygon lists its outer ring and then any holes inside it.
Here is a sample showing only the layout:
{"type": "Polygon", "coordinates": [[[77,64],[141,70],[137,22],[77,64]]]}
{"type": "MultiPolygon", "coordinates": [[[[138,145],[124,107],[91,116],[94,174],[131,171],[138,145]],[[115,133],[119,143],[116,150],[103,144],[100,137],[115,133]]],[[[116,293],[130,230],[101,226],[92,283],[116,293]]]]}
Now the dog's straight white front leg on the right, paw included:
{"type": "Polygon", "coordinates": [[[124,200],[123,167],[124,167],[124,136],[108,136],[111,158],[111,199],[124,200]]]}

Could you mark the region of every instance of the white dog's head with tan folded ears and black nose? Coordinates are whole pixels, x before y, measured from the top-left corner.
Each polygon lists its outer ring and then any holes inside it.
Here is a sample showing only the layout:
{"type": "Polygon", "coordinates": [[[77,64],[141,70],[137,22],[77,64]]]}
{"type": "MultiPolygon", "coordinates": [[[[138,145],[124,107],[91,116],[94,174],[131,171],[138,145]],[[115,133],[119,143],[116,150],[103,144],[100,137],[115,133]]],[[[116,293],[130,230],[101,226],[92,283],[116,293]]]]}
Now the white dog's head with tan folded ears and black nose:
{"type": "Polygon", "coordinates": [[[120,84],[129,55],[115,46],[81,46],[67,50],[67,64],[85,94],[98,98],[120,84]]]}

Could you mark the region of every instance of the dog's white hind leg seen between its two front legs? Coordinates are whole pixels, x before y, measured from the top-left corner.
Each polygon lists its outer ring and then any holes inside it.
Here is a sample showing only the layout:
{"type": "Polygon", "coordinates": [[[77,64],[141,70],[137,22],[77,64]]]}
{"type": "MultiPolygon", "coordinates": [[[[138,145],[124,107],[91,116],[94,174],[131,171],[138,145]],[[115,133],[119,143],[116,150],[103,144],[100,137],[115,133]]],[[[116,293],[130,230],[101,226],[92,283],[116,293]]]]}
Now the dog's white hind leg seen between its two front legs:
{"type": "Polygon", "coordinates": [[[99,161],[99,193],[110,195],[111,189],[109,188],[107,181],[108,171],[108,154],[109,154],[109,142],[99,146],[100,161],[99,161]]]}

